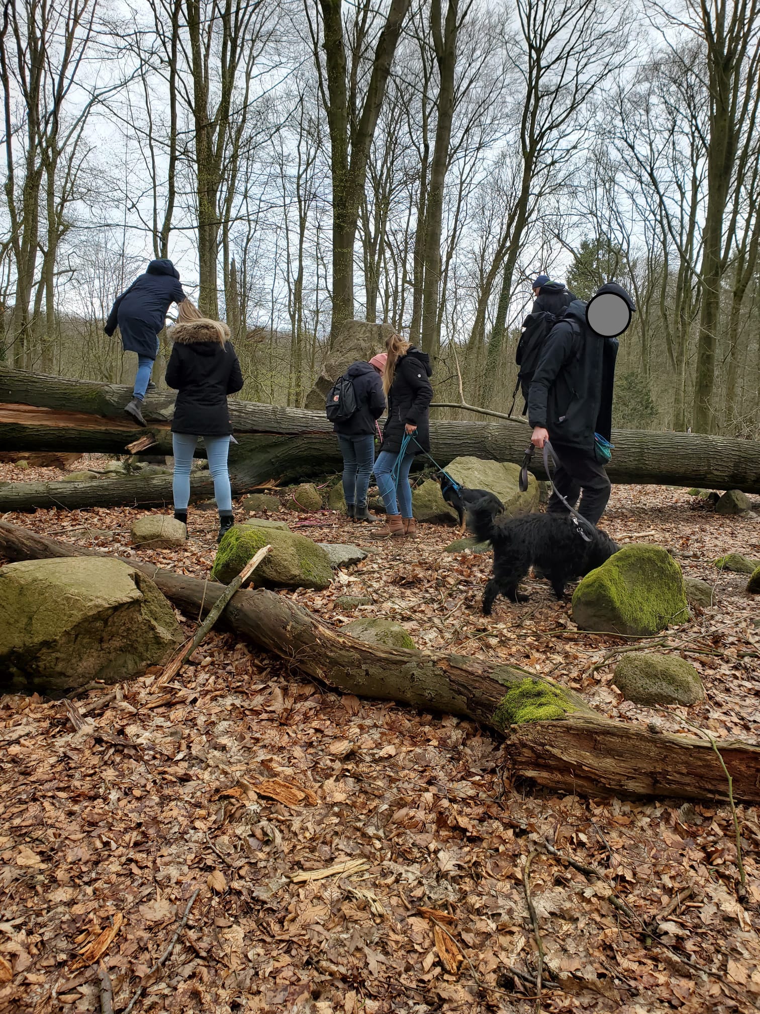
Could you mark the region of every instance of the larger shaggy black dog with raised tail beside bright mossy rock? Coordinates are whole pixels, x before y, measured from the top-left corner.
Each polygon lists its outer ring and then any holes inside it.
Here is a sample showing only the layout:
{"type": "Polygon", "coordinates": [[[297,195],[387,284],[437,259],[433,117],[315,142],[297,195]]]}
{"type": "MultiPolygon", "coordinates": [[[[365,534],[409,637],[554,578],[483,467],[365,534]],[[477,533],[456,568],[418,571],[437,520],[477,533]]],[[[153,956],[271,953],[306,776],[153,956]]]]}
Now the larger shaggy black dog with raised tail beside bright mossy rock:
{"type": "Polygon", "coordinates": [[[480,541],[493,547],[493,577],[483,591],[483,614],[490,615],[497,595],[513,602],[527,602],[528,596],[517,590],[531,567],[549,579],[557,598],[573,578],[585,577],[620,549],[604,531],[580,525],[569,515],[524,514],[496,520],[486,504],[476,504],[469,511],[469,524],[480,541]]]}

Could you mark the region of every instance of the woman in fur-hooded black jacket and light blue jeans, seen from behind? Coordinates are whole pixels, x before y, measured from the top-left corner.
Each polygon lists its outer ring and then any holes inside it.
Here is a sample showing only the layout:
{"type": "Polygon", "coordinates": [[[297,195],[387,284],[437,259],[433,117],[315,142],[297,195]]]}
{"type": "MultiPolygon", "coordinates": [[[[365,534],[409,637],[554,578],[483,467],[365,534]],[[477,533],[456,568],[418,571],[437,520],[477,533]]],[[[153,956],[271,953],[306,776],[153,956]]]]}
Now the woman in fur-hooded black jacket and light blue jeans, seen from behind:
{"type": "Polygon", "coordinates": [[[219,538],[232,527],[232,491],[227,470],[230,446],[227,395],[243,385],[240,364],[229,344],[226,323],[211,320],[185,299],[179,304],[176,327],[169,332],[174,345],[166,367],[166,383],[178,391],[171,422],[174,450],[174,517],[187,523],[189,476],[198,438],[202,436],[214,480],[219,511],[219,538]]]}

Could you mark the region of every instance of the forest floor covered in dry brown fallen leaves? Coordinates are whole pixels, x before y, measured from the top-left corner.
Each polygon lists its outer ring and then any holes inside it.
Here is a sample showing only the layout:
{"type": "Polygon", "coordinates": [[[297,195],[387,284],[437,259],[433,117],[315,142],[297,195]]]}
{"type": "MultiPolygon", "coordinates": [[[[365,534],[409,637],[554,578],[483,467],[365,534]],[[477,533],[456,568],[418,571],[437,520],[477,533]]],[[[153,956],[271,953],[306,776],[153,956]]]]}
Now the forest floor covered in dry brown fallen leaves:
{"type": "MultiPolygon", "coordinates": [[[[0,481],[55,478],[0,465],[0,481]]],[[[208,575],[213,511],[191,510],[180,550],[152,552],[129,545],[142,513],[4,519],[208,575]]],[[[699,670],[706,701],[688,709],[623,701],[611,653],[625,642],[577,632],[544,581],[526,582],[529,602],[500,599],[483,618],[490,559],[442,553],[451,528],[386,545],[329,511],[278,516],[317,541],[370,551],[327,591],[283,592],[328,623],[383,615],[420,648],[550,673],[611,717],[760,743],[758,604],[745,575],[712,565],[729,552],[760,558],[756,514],[719,517],[680,489],[613,487],[603,521],[613,537],[675,550],[686,576],[714,586],[715,604],[657,649],[699,670]],[[343,614],[346,594],[372,604],[343,614]]],[[[192,634],[197,618],[181,619],[192,634]]],[[[728,806],[510,784],[502,742],[474,723],[326,692],[231,635],[212,634],[195,663],[160,693],[155,670],[99,707],[100,692],[80,698],[82,711],[94,705],[82,733],[60,702],[0,699],[0,1011],[100,1010],[100,951],[117,1011],[139,986],[137,1011],[534,1011],[529,856],[541,1010],[760,1006],[756,808],[738,808],[742,904],[728,806]]]]}

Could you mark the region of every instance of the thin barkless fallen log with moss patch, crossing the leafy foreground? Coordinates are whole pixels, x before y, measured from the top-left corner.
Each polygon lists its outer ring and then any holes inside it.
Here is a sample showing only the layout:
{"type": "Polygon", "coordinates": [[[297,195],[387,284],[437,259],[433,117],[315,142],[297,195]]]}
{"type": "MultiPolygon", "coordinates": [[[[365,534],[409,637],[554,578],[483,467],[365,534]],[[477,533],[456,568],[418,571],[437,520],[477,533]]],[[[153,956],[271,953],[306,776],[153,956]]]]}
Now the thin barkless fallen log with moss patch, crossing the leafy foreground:
{"type": "MultiPolygon", "coordinates": [[[[102,554],[0,521],[0,555],[28,560],[102,554]]],[[[126,562],[148,574],[188,615],[208,612],[225,590],[126,562]]],[[[515,773],[539,785],[590,795],[728,798],[726,776],[708,742],[613,722],[578,694],[516,666],[366,644],[264,589],[238,592],[219,622],[328,686],[474,719],[507,737],[515,773]],[[535,720],[552,712],[563,717],[535,720]]],[[[737,740],[717,747],[734,780],[734,797],[760,802],[760,747],[737,740]]]]}

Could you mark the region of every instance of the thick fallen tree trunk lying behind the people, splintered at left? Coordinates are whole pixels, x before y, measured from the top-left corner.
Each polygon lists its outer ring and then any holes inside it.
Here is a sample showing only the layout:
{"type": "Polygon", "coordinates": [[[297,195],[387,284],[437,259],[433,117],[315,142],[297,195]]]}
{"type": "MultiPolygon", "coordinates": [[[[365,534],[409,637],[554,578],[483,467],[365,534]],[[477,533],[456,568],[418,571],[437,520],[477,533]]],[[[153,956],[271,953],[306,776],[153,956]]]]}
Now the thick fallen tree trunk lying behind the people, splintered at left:
{"type": "MultiPolygon", "coordinates": [[[[0,450],[87,450],[124,453],[143,435],[124,416],[128,387],[37,376],[0,368],[0,450]]],[[[174,395],[151,394],[143,413],[159,452],[171,452],[174,395]]],[[[323,413],[230,401],[239,441],[230,469],[239,489],[269,479],[289,481],[340,467],[332,426],[323,413]]],[[[530,440],[525,423],[431,423],[433,455],[441,465],[459,455],[521,462],[530,440]]],[[[760,443],[695,433],[615,430],[613,483],[655,483],[760,493],[760,443]]],[[[538,457],[538,455],[536,455],[538,457]]],[[[540,461],[534,472],[543,478],[540,461]]],[[[2,503],[0,503],[2,508],[2,503]]],[[[7,509],[7,508],[6,508],[7,509]]]]}

